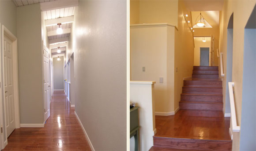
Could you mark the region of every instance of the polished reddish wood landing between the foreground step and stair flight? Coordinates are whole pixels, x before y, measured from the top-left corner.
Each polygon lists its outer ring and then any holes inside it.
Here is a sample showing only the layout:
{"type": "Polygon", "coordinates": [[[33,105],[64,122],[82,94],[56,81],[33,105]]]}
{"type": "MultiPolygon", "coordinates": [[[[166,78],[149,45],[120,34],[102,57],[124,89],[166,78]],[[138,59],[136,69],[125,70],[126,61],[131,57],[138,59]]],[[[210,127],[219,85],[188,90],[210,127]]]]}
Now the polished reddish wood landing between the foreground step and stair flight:
{"type": "Polygon", "coordinates": [[[155,136],[231,140],[230,118],[223,117],[222,111],[179,110],[171,116],[155,116],[155,136]]]}

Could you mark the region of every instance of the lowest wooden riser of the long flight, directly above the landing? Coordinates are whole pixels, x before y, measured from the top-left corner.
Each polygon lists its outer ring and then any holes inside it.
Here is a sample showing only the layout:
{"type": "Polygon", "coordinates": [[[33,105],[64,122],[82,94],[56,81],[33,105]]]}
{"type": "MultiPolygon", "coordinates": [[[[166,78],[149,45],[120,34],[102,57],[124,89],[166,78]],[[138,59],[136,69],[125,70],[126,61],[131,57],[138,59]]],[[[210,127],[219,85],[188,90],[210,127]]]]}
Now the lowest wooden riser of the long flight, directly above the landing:
{"type": "Polygon", "coordinates": [[[223,104],[180,102],[180,109],[183,109],[183,110],[222,110],[222,108],[223,108],[223,104]]]}

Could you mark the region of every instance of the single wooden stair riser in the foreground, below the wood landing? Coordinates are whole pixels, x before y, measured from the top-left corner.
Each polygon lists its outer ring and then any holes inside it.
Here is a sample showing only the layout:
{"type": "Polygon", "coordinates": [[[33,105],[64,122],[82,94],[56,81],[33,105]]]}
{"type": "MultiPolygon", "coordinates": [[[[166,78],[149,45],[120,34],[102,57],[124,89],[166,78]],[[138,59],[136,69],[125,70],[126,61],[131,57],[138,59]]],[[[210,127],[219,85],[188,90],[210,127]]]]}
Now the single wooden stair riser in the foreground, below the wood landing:
{"type": "Polygon", "coordinates": [[[199,151],[231,151],[232,141],[154,138],[154,147],[199,151]]]}

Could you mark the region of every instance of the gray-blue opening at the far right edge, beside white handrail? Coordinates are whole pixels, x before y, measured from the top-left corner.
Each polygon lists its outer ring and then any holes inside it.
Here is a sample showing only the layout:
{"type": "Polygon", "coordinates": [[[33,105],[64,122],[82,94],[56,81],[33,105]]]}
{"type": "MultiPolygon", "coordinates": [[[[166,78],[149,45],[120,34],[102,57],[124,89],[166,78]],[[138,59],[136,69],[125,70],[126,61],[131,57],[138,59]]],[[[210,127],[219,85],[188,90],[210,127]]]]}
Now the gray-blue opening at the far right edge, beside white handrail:
{"type": "Polygon", "coordinates": [[[256,151],[256,6],[245,26],[240,151],[256,151]]]}

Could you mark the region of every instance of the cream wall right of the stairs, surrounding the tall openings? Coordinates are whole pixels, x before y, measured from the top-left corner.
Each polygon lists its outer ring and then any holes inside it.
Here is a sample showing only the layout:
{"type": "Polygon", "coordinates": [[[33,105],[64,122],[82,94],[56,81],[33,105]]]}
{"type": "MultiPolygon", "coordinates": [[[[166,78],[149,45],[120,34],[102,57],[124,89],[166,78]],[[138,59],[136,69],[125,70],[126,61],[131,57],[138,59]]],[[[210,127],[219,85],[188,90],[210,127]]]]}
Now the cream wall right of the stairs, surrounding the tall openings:
{"type": "MultiPolygon", "coordinates": [[[[227,26],[232,13],[233,16],[233,69],[232,81],[234,82],[234,100],[237,113],[237,124],[241,125],[241,106],[242,106],[242,79],[243,79],[243,52],[244,52],[244,31],[245,25],[255,6],[255,0],[226,0],[224,1],[223,11],[220,22],[220,51],[223,52],[224,72],[226,73],[226,48],[227,48],[227,26]]],[[[226,90],[226,75],[222,80],[223,91],[226,90]]],[[[225,100],[226,92],[223,92],[225,100]]],[[[233,135],[233,151],[239,151],[240,135],[233,135]]]]}

